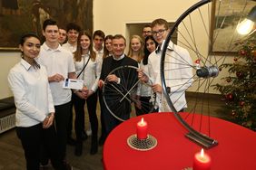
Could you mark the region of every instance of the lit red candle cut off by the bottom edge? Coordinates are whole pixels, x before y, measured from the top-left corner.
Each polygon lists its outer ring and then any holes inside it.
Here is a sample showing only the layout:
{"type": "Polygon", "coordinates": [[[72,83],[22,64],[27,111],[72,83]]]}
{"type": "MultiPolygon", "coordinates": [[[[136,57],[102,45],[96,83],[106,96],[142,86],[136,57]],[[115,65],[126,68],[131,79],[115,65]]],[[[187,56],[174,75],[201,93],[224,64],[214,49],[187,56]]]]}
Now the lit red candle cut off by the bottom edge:
{"type": "Polygon", "coordinates": [[[193,170],[210,170],[211,169],[211,157],[203,152],[194,155],[193,170]]]}

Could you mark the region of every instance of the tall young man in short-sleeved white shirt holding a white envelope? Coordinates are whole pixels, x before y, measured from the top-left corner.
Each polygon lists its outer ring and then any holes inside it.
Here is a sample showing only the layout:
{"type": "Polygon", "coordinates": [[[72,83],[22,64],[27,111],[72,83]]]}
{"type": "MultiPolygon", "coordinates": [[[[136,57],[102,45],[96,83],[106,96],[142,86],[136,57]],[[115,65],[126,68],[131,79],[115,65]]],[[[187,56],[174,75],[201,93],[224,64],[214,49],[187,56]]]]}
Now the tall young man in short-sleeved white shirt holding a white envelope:
{"type": "Polygon", "coordinates": [[[58,149],[66,169],[72,169],[65,162],[67,127],[70,118],[71,90],[64,89],[67,78],[76,79],[73,54],[64,50],[58,42],[58,25],[54,20],[47,19],[43,24],[45,42],[41,47],[38,62],[46,67],[48,81],[54,99],[55,127],[58,138],[58,149]]]}

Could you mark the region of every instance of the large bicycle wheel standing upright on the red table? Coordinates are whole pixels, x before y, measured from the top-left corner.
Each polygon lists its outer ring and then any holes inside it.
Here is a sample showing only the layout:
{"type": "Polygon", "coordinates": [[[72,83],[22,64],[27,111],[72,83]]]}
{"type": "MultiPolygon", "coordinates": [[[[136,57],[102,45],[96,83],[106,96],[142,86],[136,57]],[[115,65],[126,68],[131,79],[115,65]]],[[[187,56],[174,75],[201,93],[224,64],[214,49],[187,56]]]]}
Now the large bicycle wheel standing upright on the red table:
{"type": "Polygon", "coordinates": [[[251,3],[255,5],[255,1],[202,0],[178,18],[162,45],[161,76],[164,97],[175,117],[189,130],[186,137],[206,148],[218,144],[218,141],[211,137],[210,116],[214,115],[215,110],[208,107],[208,101],[214,99],[218,93],[213,90],[212,85],[225,73],[221,65],[231,61],[228,53],[223,52],[235,52],[238,48],[234,43],[242,37],[234,28],[242,16],[246,16],[251,3]],[[225,33],[231,33],[231,36],[225,36],[223,42],[225,33]],[[171,42],[176,36],[178,46],[171,42]],[[216,50],[220,48],[222,55],[216,50]],[[183,57],[184,51],[190,54],[191,59],[183,57]],[[180,78],[177,78],[174,74],[179,75],[181,71],[191,71],[191,76],[180,75],[180,78]],[[176,102],[182,98],[185,91],[186,95],[192,95],[193,99],[182,106],[185,108],[184,113],[179,112],[176,102]],[[180,96],[173,99],[175,94],[180,96]],[[207,117],[196,116],[195,113],[207,117]],[[195,127],[196,121],[200,121],[200,126],[195,127]]]}

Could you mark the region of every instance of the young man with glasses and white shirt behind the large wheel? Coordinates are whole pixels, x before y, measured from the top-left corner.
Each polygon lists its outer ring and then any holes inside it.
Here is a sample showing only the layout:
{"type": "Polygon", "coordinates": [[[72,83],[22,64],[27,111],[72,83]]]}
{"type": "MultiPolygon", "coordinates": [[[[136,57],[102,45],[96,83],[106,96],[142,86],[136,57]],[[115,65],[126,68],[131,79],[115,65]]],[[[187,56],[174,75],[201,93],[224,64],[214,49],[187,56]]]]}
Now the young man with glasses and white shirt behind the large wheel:
{"type": "MultiPolygon", "coordinates": [[[[169,108],[166,100],[163,97],[160,73],[162,44],[170,30],[167,21],[162,18],[154,20],[151,26],[153,38],[159,44],[157,50],[150,54],[148,61],[148,67],[150,71],[149,76],[155,82],[152,88],[153,92],[156,93],[156,107],[158,107],[159,112],[175,111],[169,108]]],[[[187,107],[185,90],[187,90],[192,85],[192,79],[188,81],[188,78],[192,78],[192,69],[190,67],[186,67],[186,69],[184,69],[184,63],[182,62],[186,61],[187,64],[192,65],[192,59],[186,49],[173,44],[172,41],[169,42],[166,53],[168,53],[166,60],[169,60],[169,62],[166,62],[164,69],[168,68],[169,71],[167,76],[172,76],[172,79],[168,79],[170,77],[166,78],[166,86],[170,88],[168,93],[174,108],[176,111],[182,111],[182,109],[187,107]]],[[[147,81],[148,79],[145,78],[145,75],[142,71],[139,71],[139,78],[143,81],[147,81]]]]}

